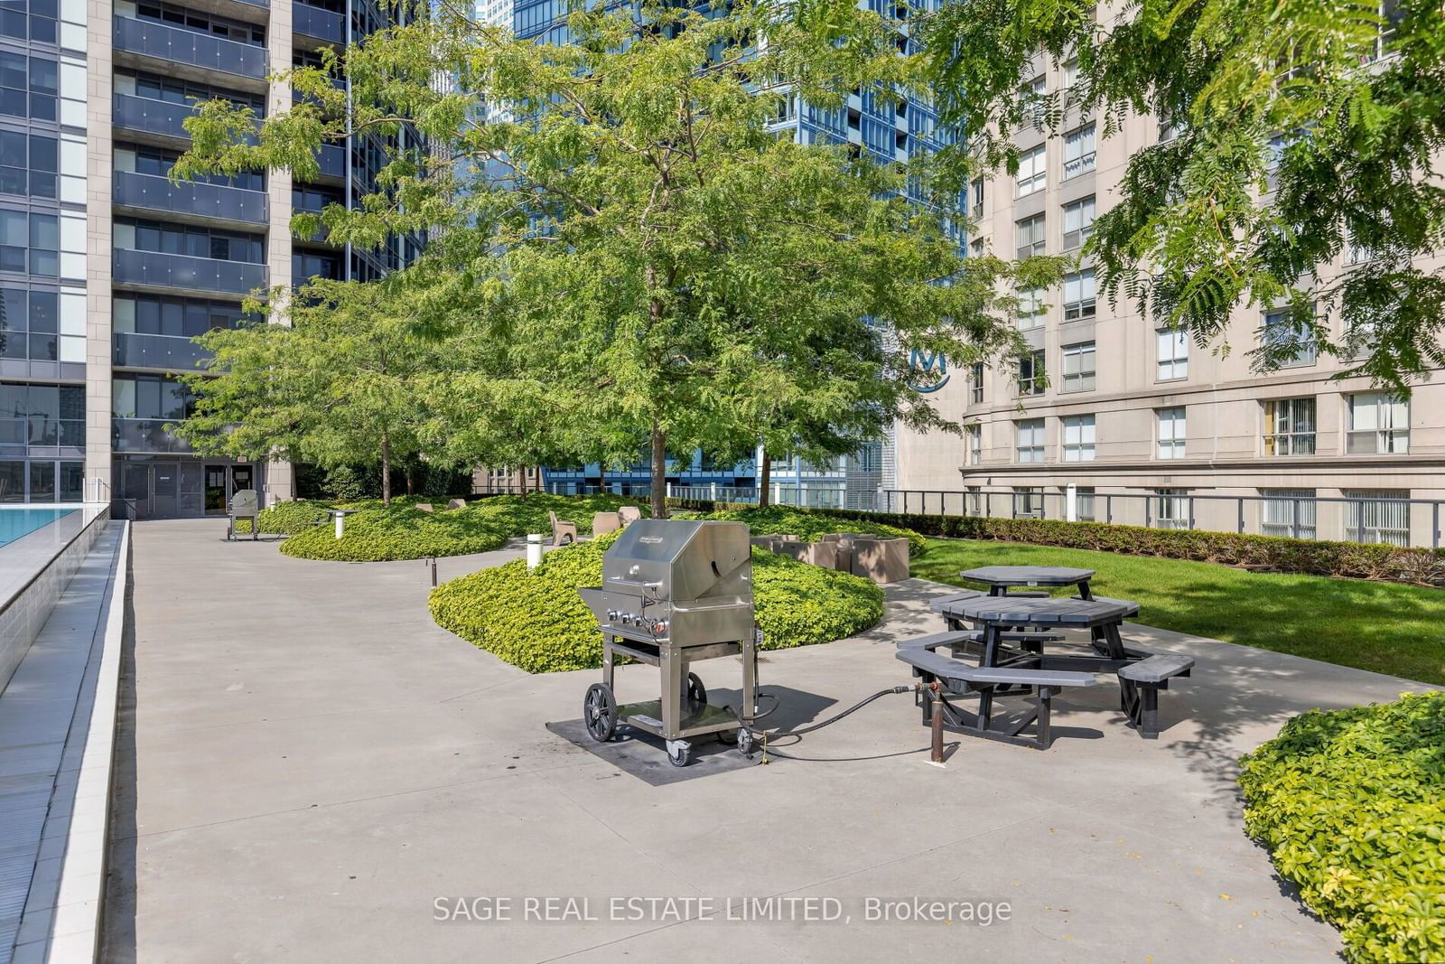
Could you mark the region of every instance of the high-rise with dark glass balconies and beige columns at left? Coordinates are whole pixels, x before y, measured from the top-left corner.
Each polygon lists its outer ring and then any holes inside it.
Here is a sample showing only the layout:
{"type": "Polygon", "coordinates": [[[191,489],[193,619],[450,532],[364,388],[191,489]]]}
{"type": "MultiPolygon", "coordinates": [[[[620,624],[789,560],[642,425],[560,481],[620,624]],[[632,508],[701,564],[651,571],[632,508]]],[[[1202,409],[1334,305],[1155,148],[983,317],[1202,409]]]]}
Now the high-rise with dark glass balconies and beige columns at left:
{"type": "MultiPolygon", "coordinates": [[[[269,74],[387,23],[368,0],[32,0],[0,17],[0,500],[114,499],[139,517],[224,512],[233,491],[290,494],[282,462],[201,458],[165,431],[191,399],[191,341],[243,298],[312,275],[376,277],[377,251],[293,238],[295,210],[354,202],[383,163],[355,137],[321,173],[172,184],[198,100],[290,104],[269,74]]],[[[340,82],[340,81],[338,81],[340,82]]]]}

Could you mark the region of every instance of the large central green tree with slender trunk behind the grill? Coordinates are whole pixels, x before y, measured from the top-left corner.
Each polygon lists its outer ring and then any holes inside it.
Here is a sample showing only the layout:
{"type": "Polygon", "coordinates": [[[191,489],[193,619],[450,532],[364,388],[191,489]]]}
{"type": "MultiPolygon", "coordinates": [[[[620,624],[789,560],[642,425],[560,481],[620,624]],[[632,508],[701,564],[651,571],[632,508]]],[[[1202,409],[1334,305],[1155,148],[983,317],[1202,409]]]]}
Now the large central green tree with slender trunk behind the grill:
{"type": "Polygon", "coordinates": [[[305,176],[319,142],[415,127],[426,150],[393,147],[379,191],[319,221],[360,246],[444,228],[407,273],[445,292],[441,324],[504,360],[457,380],[478,413],[462,448],[500,434],[530,458],[582,457],[590,431],[642,429],[657,516],[669,451],[737,449],[772,431],[760,418],[796,412],[847,445],[896,419],[954,428],[912,387],[910,351],[967,363],[1016,345],[1013,299],[997,295],[1014,269],[959,257],[957,192],[935,191],[926,162],[884,166],[770,127],[785,98],[837,107],[854,87],[912,82],[899,22],[844,0],[649,0],[568,26],[572,43],[520,42],[442,7],[348,49],[350,97],[328,64],[292,74],[315,103],[259,124],[205,104],[176,169],[305,176]],[[481,123],[480,104],[509,114],[481,123]],[[759,405],[789,380],[802,387],[759,405]]]}

